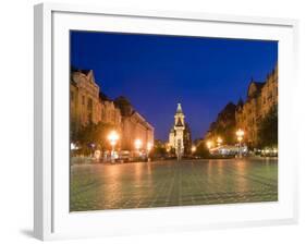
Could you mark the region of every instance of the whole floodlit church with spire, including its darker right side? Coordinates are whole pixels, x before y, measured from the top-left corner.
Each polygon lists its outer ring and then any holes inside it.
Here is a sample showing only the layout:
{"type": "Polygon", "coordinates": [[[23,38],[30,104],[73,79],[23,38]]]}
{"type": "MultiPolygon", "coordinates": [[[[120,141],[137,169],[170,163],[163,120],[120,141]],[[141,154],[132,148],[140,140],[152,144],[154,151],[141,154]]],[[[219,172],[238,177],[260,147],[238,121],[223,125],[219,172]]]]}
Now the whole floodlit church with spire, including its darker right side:
{"type": "Polygon", "coordinates": [[[185,115],[181,103],[178,103],[174,115],[174,125],[169,134],[169,147],[175,150],[178,159],[187,154],[191,149],[191,131],[185,123],[185,115]]]}

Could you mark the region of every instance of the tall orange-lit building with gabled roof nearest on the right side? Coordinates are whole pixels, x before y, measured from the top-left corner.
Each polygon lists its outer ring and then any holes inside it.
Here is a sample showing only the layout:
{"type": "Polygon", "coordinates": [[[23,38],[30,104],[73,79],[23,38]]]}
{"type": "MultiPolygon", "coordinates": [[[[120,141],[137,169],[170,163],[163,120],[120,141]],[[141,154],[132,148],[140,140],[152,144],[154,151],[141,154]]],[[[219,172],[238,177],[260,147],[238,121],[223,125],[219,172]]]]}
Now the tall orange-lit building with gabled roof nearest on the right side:
{"type": "Polygon", "coordinates": [[[246,101],[240,101],[235,111],[236,126],[244,130],[244,141],[256,147],[258,130],[262,119],[272,107],[278,106],[278,66],[267,75],[265,82],[250,81],[246,101]]]}

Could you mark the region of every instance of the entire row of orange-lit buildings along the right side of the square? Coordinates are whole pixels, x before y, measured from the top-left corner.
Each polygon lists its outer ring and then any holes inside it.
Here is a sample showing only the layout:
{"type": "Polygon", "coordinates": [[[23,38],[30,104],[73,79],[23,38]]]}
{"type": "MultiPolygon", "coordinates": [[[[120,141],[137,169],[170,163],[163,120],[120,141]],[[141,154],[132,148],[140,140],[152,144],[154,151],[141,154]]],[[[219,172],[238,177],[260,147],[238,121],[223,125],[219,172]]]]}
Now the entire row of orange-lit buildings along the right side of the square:
{"type": "Polygon", "coordinates": [[[245,101],[240,99],[237,105],[228,103],[211,123],[205,138],[211,139],[225,134],[225,143],[235,142],[235,131],[245,132],[244,142],[250,147],[259,144],[258,130],[262,119],[278,106],[278,65],[270,72],[266,81],[250,81],[245,101]]]}

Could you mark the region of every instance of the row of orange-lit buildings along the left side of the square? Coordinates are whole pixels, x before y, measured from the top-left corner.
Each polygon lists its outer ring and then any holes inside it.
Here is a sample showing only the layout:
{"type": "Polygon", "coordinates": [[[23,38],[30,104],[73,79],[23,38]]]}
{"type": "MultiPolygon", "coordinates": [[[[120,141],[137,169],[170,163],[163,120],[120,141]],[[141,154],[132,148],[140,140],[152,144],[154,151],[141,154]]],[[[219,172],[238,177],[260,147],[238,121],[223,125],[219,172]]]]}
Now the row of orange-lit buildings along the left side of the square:
{"type": "MultiPolygon", "coordinates": [[[[109,99],[97,85],[93,70],[72,68],[70,81],[70,118],[73,130],[99,122],[119,130],[119,146],[132,150],[134,142],[154,145],[154,126],[124,97],[109,99]]],[[[89,142],[88,142],[89,143],[89,142]]]]}

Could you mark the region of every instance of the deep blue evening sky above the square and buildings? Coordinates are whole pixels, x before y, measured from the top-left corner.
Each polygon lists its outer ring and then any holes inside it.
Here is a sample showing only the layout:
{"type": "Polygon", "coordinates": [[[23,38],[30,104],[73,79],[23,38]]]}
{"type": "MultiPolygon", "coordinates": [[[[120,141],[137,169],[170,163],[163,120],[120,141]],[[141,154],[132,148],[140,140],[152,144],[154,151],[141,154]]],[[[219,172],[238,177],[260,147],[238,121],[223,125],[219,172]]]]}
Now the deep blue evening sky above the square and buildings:
{"type": "Polygon", "coordinates": [[[94,70],[110,98],[127,97],[160,139],[168,139],[178,102],[193,139],[203,137],[277,61],[277,41],[71,32],[71,64],[94,70]]]}

